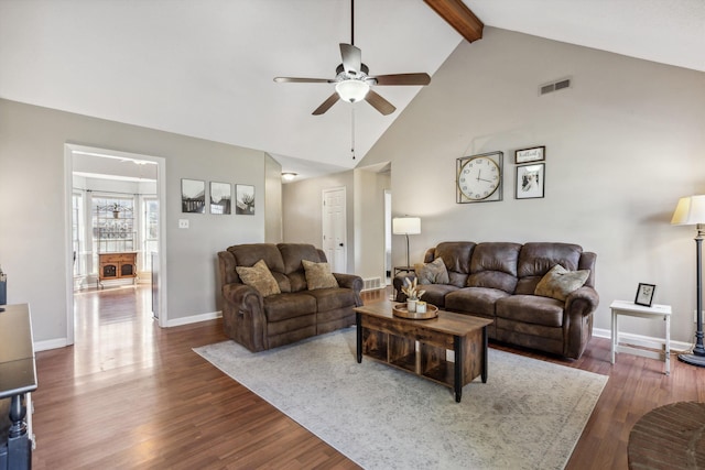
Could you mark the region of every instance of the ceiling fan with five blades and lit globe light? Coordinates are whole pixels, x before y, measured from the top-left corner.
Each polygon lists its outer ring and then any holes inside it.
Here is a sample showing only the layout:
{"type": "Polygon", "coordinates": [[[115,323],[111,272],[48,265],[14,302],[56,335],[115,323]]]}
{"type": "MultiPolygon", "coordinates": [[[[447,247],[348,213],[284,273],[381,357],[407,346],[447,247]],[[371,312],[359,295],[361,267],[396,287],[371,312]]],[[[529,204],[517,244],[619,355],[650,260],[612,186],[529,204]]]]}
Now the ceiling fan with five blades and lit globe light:
{"type": "Polygon", "coordinates": [[[369,68],[362,64],[362,52],[355,46],[355,0],[350,0],[351,37],[350,44],[340,44],[340,56],[343,63],[337,66],[335,78],[294,78],[275,77],[276,83],[297,84],[335,84],[335,92],[330,95],[318,108],[313,111],[314,116],[326,112],[338,100],[356,102],[365,100],[372,108],[382,114],[391,114],[397,108],[382,98],[371,88],[375,86],[388,85],[429,85],[431,77],[429,74],[392,74],[392,75],[369,75],[369,68]]]}

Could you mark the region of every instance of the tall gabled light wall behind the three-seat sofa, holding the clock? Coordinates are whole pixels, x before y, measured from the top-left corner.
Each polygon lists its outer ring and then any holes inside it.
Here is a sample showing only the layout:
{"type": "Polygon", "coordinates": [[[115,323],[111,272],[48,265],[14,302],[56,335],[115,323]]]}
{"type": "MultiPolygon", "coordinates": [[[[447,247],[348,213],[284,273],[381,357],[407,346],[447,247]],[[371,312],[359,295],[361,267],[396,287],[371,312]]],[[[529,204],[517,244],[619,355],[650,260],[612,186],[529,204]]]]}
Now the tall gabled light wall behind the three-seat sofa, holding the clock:
{"type": "MultiPolygon", "coordinates": [[[[486,28],[463,42],[360,166],[392,162],[393,216],[422,218],[412,262],[445,240],[564,241],[597,253],[600,306],[639,282],[674,308],[672,338],[694,331],[694,227],[673,227],[679,197],[705,193],[705,74],[486,28]],[[541,84],[572,77],[544,97],[541,84]],[[513,151],[546,146],[545,198],[517,200],[513,151]],[[503,200],[456,204],[456,159],[505,152],[503,200]]],[[[393,240],[393,264],[404,243],[393,240]]],[[[663,336],[662,325],[623,321],[663,336]]]]}

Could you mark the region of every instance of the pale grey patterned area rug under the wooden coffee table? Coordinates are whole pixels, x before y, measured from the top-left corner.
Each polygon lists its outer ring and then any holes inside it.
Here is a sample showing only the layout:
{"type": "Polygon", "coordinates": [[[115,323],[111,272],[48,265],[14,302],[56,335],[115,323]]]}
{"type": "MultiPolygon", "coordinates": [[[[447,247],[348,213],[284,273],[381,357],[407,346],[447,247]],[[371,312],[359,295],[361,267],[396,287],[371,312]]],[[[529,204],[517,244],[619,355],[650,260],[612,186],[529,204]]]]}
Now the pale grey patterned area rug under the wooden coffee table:
{"type": "Polygon", "coordinates": [[[449,387],[371,359],[355,328],[258,353],[195,349],[366,469],[562,469],[607,376],[491,349],[487,383],[449,387]]]}

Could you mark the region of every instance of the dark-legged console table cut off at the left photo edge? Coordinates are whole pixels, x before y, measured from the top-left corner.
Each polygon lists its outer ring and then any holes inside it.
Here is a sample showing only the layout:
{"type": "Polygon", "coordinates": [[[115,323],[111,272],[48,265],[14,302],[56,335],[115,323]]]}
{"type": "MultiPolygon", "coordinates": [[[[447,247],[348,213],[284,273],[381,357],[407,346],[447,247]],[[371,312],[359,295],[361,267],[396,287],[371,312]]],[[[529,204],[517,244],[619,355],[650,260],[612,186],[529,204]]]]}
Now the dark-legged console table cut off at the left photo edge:
{"type": "Polygon", "coordinates": [[[0,469],[29,469],[33,440],[30,392],[36,390],[36,367],[26,304],[6,305],[0,313],[0,405],[9,401],[10,417],[7,441],[0,441],[0,469]]]}

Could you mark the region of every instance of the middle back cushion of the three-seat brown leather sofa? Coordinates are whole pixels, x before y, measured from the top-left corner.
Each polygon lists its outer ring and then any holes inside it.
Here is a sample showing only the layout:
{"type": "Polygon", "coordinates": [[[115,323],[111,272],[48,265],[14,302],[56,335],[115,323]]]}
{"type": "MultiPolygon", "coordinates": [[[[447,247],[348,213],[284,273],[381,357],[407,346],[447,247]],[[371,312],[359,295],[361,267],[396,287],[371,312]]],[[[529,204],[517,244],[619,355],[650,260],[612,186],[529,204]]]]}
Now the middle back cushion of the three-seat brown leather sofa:
{"type": "Polygon", "coordinates": [[[517,260],[521,244],[479,243],[473,251],[468,287],[489,287],[512,294],[517,287],[517,260]]]}

